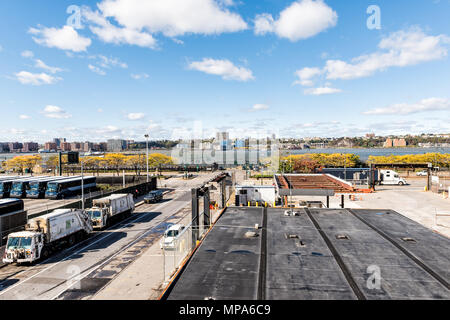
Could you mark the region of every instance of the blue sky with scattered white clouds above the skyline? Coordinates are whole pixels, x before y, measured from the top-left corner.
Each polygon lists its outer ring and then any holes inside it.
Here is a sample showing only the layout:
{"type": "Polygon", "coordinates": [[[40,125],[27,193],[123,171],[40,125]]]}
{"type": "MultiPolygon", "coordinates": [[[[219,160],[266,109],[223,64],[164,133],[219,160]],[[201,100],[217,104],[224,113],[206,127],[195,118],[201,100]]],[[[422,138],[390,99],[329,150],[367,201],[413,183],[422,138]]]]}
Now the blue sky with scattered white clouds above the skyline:
{"type": "Polygon", "coordinates": [[[449,0],[0,3],[0,141],[450,132],[449,0]],[[381,28],[369,29],[377,5],[381,28]],[[67,24],[80,8],[81,28],[67,24]]]}

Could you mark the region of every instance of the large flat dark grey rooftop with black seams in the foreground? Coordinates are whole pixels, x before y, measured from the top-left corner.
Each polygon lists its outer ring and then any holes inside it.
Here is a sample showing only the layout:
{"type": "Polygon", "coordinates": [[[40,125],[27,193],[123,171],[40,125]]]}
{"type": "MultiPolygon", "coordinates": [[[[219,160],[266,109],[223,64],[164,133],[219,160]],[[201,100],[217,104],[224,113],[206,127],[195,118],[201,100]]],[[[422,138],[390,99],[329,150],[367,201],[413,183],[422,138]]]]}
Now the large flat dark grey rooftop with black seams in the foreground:
{"type": "Polygon", "coordinates": [[[391,210],[298,211],[229,207],[168,299],[450,299],[450,239],[391,210]]]}

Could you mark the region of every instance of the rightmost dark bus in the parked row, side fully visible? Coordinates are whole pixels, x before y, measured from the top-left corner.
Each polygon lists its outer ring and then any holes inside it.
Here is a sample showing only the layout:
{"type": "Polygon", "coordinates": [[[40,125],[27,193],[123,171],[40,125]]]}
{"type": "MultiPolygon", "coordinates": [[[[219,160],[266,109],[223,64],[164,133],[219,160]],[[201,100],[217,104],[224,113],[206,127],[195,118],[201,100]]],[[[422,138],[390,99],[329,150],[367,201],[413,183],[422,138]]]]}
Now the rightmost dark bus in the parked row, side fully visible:
{"type": "MultiPolygon", "coordinates": [[[[45,198],[47,199],[63,199],[70,196],[81,194],[81,177],[67,178],[59,181],[52,181],[47,183],[47,190],[45,191],[45,198]]],[[[84,177],[83,189],[84,192],[95,189],[97,187],[96,177],[84,177]]]]}

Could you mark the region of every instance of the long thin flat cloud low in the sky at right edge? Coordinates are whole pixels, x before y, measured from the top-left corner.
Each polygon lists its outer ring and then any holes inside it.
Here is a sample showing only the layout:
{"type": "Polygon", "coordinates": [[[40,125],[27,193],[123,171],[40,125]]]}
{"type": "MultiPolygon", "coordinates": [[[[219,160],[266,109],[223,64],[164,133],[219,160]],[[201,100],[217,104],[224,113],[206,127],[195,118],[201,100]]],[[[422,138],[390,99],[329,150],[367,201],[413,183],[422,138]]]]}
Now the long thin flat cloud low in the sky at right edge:
{"type": "Polygon", "coordinates": [[[425,111],[450,110],[450,100],[443,98],[423,99],[414,104],[399,103],[386,108],[378,108],[364,112],[369,115],[407,115],[425,111]]]}

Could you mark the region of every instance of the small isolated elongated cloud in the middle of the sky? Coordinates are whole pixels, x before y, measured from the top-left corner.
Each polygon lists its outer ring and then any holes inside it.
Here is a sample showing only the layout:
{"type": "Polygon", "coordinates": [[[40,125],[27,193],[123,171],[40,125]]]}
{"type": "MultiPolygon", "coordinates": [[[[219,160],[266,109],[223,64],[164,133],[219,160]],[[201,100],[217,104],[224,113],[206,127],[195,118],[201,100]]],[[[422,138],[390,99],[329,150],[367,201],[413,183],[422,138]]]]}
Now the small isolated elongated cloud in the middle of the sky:
{"type": "Polygon", "coordinates": [[[225,80],[249,81],[255,79],[251,70],[237,67],[229,60],[204,58],[189,64],[189,69],[221,76],[225,80]]]}

